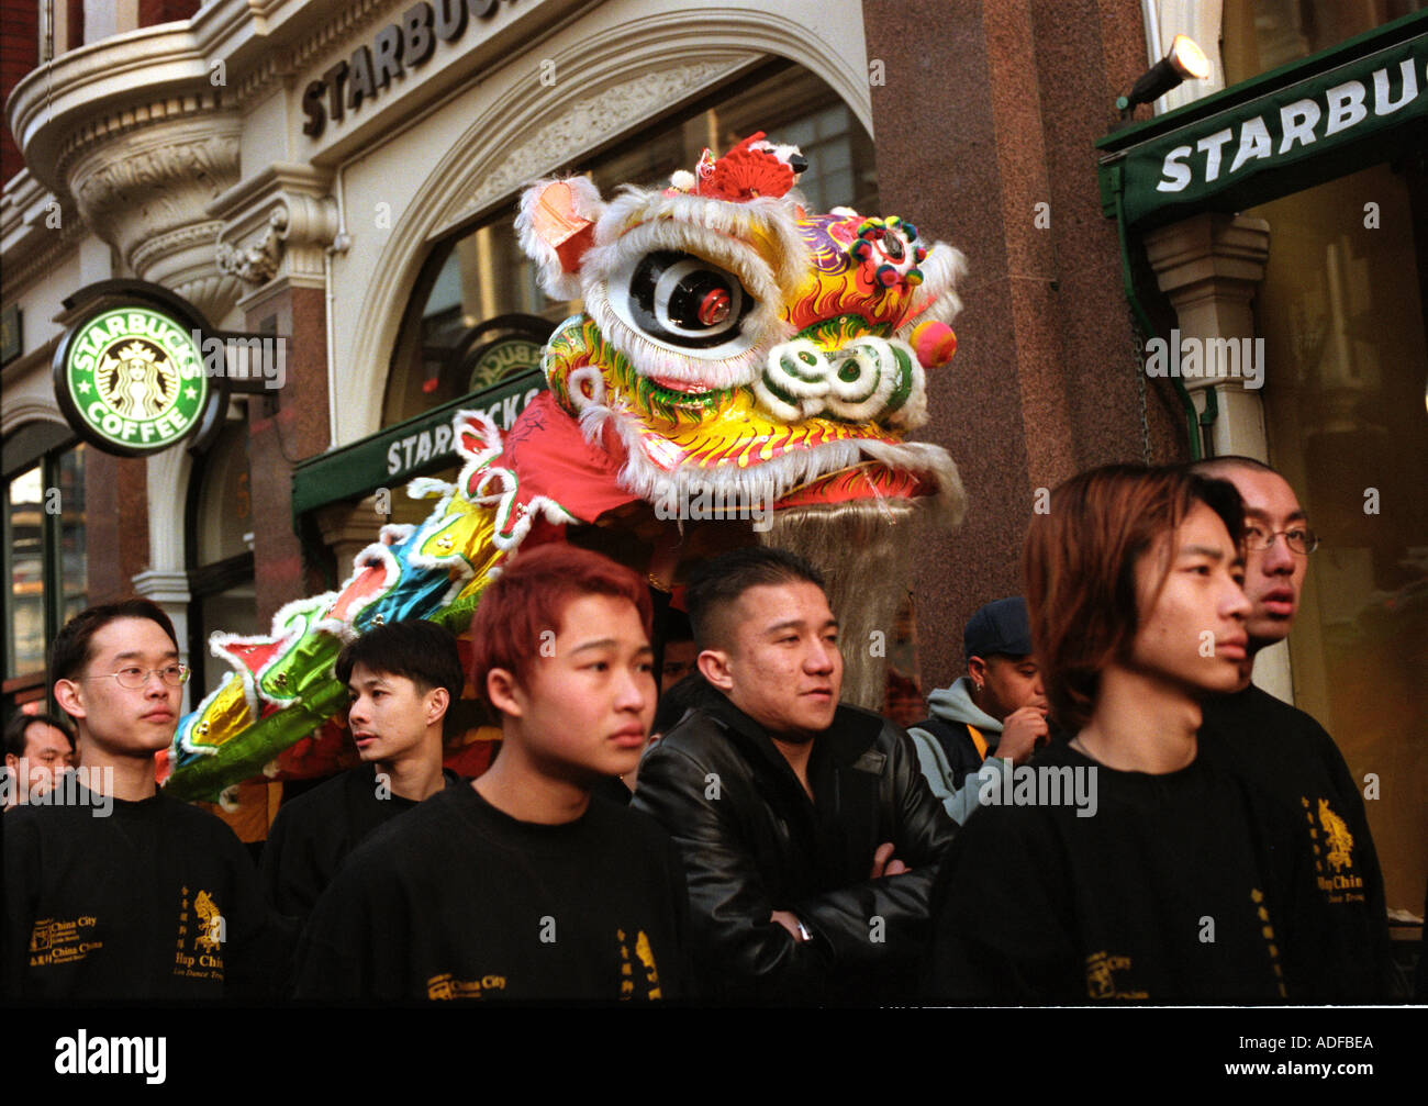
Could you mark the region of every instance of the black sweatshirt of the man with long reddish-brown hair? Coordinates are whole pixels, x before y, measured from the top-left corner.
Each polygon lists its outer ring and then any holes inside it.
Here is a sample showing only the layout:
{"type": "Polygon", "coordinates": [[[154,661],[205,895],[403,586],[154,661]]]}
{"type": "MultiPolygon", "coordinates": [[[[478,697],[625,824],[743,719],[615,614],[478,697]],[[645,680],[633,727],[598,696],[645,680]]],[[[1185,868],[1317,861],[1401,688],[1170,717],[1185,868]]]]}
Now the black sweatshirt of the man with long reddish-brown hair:
{"type": "Polygon", "coordinates": [[[982,805],[967,819],[934,891],[931,998],[1284,1000],[1278,892],[1234,773],[1207,758],[1117,772],[1065,745],[1027,768],[1095,771],[1095,813],[982,805]]]}

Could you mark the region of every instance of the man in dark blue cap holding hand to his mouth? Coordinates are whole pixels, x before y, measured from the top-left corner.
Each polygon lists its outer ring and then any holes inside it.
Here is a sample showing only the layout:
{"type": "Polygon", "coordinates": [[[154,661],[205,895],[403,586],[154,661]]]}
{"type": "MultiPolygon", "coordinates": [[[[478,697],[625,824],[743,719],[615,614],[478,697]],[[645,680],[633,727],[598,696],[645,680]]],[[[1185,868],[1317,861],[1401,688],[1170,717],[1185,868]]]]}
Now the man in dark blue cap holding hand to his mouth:
{"type": "Polygon", "coordinates": [[[1025,601],[987,604],[962,631],[967,675],[934,691],[931,716],[908,729],[922,775],[958,823],[977,809],[984,763],[1000,775],[1031,759],[1050,736],[1047,694],[1031,652],[1025,601]]]}

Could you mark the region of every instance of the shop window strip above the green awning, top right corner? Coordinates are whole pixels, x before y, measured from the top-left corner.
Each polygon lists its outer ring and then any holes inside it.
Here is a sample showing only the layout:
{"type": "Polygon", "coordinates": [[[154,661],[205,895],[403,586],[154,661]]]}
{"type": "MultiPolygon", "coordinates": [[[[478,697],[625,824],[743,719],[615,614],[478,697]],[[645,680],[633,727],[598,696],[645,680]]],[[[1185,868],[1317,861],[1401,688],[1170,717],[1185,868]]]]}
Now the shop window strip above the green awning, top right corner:
{"type": "Polygon", "coordinates": [[[1328,50],[1421,7],[1422,0],[1224,0],[1225,83],[1328,50]]]}

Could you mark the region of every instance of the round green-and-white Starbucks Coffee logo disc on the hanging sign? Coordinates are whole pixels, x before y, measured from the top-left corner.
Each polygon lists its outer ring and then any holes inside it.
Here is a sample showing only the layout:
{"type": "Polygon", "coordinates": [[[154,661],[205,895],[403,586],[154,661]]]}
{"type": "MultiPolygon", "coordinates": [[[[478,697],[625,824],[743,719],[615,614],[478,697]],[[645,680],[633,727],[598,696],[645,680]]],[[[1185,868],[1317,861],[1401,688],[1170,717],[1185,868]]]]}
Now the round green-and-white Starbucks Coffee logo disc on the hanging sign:
{"type": "Polygon", "coordinates": [[[193,334],[147,307],[104,311],[74,331],[63,387],[83,428],[123,452],[166,450],[208,401],[193,334]]]}

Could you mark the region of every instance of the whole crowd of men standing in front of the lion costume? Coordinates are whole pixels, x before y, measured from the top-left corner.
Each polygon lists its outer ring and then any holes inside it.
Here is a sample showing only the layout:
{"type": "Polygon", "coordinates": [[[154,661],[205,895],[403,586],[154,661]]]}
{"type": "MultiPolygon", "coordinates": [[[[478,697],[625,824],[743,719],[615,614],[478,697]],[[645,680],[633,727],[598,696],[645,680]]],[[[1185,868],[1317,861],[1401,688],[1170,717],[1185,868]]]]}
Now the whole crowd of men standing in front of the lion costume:
{"type": "Polygon", "coordinates": [[[6,759],[43,792],[77,752],[110,809],[6,813],[4,995],[1391,1000],[1364,801],[1251,684],[1314,547],[1257,461],[1074,477],[911,731],[840,701],[837,612],[790,552],[695,565],[657,628],[637,572],[524,551],[466,671],[428,622],[346,645],[361,763],[286,802],[258,866],[156,788],[187,678],[167,617],[90,608],[50,661],[77,746],[27,716],[6,759]],[[474,781],[441,763],[466,684],[503,735],[474,781]]]}

